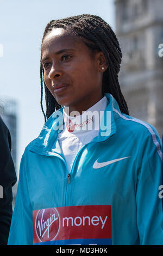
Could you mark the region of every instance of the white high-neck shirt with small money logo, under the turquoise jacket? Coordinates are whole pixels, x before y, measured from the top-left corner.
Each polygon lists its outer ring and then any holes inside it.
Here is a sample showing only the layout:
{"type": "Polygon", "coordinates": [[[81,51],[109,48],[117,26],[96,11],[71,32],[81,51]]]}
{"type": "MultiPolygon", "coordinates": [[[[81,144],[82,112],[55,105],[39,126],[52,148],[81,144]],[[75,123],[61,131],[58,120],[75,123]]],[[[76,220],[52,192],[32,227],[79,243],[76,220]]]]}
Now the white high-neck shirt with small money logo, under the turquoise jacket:
{"type": "Polygon", "coordinates": [[[66,113],[67,107],[64,108],[65,125],[63,130],[58,133],[58,139],[67,163],[68,172],[71,172],[74,159],[83,145],[98,136],[99,124],[107,105],[108,100],[104,96],[95,105],[87,109],[82,115],[77,115],[77,117],[68,115],[66,113]]]}

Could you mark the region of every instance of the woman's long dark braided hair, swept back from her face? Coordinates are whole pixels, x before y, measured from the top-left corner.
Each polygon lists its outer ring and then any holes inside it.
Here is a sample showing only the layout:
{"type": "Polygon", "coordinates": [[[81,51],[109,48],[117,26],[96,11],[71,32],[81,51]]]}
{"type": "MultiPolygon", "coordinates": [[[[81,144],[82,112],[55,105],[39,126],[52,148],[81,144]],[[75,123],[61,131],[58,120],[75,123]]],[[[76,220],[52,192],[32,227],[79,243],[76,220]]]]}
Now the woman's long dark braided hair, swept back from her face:
{"type": "MultiPolygon", "coordinates": [[[[96,15],[83,14],[72,16],[61,20],[50,21],[43,33],[43,39],[54,28],[63,28],[72,35],[80,37],[91,52],[102,51],[104,53],[108,69],[103,74],[102,94],[110,93],[115,97],[120,110],[129,115],[128,106],[121,92],[118,82],[118,72],[122,59],[122,52],[115,33],[111,27],[101,17],[96,15]]],[[[42,44],[41,44],[42,46],[42,44]]],[[[57,109],[61,108],[54,96],[49,92],[43,80],[43,68],[40,61],[40,78],[41,78],[41,109],[45,121],[57,109]],[[46,113],[43,111],[42,97],[43,84],[45,87],[46,113]]]]}

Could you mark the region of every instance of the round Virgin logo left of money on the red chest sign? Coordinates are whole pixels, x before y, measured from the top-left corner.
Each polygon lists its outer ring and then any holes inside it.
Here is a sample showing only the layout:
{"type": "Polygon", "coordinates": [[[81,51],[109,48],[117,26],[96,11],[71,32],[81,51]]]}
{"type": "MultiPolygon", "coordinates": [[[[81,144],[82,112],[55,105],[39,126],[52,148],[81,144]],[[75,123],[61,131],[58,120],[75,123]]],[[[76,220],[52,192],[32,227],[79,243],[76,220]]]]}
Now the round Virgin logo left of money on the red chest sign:
{"type": "Polygon", "coordinates": [[[55,208],[42,209],[36,217],[36,233],[42,242],[55,239],[59,231],[59,215],[55,208]]]}

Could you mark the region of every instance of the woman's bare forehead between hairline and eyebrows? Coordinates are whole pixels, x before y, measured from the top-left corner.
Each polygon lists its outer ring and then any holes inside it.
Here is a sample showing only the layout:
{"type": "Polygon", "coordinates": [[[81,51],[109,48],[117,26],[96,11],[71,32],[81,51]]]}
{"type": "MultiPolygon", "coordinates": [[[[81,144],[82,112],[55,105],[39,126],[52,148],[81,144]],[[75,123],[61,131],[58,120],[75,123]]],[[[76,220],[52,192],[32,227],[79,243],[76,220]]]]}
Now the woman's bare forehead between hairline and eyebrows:
{"type": "Polygon", "coordinates": [[[65,31],[65,29],[54,28],[45,36],[45,39],[43,39],[41,48],[42,57],[43,54],[49,54],[51,52],[55,53],[66,48],[81,51],[82,49],[85,50],[87,47],[81,39],[71,35],[65,31]]]}

